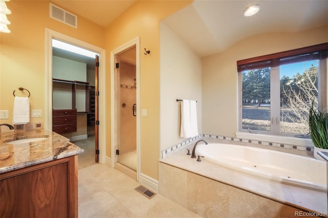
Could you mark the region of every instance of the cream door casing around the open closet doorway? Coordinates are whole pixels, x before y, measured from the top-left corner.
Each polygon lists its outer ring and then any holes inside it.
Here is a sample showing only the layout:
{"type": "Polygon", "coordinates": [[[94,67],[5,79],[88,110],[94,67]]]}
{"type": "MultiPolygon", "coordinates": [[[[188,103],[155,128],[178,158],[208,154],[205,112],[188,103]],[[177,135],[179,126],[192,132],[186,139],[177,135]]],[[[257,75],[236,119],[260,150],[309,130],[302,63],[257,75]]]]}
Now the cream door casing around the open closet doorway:
{"type": "Polygon", "coordinates": [[[105,163],[106,159],[106,80],[105,80],[105,49],[93,46],[87,42],[70,37],[63,33],[45,28],[45,129],[52,130],[52,38],[60,39],[99,54],[99,75],[98,75],[98,139],[99,139],[99,163],[105,163]]]}

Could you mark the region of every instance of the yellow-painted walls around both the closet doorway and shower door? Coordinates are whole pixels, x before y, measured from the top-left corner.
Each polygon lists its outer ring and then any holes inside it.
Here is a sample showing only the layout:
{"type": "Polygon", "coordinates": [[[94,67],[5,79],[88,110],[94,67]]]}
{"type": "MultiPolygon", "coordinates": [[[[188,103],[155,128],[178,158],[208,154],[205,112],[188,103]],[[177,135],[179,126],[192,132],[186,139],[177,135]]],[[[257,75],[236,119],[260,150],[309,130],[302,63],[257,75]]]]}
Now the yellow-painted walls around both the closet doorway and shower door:
{"type": "MultiPolygon", "coordinates": [[[[10,1],[7,7],[11,33],[0,33],[0,110],[9,110],[11,123],[12,92],[20,86],[31,92],[31,110],[45,111],[45,28],[66,34],[91,45],[105,48],[106,56],[127,41],[140,36],[140,48],[150,55],[141,55],[141,108],[148,117],[141,119],[141,173],[158,178],[160,110],[159,110],[159,23],[192,1],[138,1],[107,28],[78,16],[75,29],[49,17],[49,1],[10,1]]],[[[65,8],[64,8],[65,9],[65,8]]],[[[74,13],[74,11],[70,11],[74,13]]],[[[110,105],[110,62],[106,60],[106,108],[110,105]]],[[[111,156],[110,116],[107,112],[106,156],[111,156]]],[[[43,113],[44,114],[44,113],[43,113]]],[[[30,122],[44,122],[31,118],[30,122]]]]}

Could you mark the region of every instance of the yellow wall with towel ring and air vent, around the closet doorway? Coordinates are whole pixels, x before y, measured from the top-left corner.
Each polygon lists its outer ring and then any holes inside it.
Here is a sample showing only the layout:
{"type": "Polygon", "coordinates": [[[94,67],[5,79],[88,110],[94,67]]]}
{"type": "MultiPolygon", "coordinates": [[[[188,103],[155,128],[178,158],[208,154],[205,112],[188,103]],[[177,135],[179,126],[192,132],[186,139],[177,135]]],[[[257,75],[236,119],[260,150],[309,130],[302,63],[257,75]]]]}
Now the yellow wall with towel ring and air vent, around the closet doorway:
{"type": "MultiPolygon", "coordinates": [[[[30,109],[45,114],[45,28],[100,48],[105,47],[105,29],[80,16],[77,29],[52,19],[49,1],[10,1],[7,7],[12,12],[7,16],[11,33],[0,33],[0,110],[9,110],[9,119],[1,122],[11,124],[12,92],[25,96],[18,91],[20,86],[31,92],[30,109]]],[[[44,117],[30,119],[44,121],[44,117]]]]}

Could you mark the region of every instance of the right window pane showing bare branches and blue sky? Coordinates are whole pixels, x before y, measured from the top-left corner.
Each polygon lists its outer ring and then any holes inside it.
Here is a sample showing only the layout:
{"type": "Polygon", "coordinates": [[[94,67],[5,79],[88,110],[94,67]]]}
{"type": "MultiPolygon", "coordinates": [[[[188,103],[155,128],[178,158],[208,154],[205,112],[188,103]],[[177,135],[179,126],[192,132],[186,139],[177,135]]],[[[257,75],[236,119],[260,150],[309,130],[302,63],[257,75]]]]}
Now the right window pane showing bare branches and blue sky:
{"type": "Polygon", "coordinates": [[[318,60],[280,66],[280,132],[308,134],[311,102],[318,102],[318,60]]]}

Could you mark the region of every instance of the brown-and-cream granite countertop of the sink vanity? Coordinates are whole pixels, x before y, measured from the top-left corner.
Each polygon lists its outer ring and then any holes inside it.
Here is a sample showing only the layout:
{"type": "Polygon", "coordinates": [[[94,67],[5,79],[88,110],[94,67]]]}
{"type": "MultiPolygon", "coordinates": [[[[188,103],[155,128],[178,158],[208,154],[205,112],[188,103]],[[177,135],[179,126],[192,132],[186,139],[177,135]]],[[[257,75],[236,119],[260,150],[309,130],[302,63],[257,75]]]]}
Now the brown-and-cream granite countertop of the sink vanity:
{"type": "Polygon", "coordinates": [[[0,134],[0,173],[83,153],[69,139],[45,129],[13,130],[0,134]],[[15,140],[45,138],[16,144],[15,140]]]}

